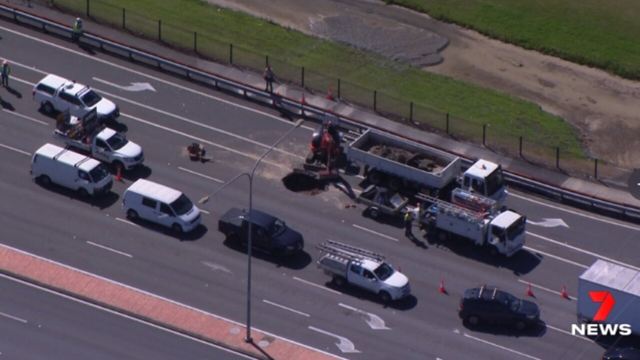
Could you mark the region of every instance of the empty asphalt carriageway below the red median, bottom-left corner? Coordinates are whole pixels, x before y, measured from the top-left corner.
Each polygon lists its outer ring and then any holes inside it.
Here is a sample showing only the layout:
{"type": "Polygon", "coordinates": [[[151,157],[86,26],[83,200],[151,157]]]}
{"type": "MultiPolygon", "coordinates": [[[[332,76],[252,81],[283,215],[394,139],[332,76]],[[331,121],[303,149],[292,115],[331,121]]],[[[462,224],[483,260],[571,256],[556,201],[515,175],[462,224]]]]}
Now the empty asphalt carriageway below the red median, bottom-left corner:
{"type": "Polygon", "coordinates": [[[8,277],[0,289],[4,359],[252,359],[8,277]]]}

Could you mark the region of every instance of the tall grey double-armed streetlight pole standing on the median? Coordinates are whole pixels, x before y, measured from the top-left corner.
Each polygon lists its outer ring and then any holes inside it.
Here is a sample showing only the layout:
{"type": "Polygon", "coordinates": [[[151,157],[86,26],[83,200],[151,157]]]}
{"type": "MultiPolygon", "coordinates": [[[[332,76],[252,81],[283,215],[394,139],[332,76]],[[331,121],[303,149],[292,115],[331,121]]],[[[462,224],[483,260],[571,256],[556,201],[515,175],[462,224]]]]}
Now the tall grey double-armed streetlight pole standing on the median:
{"type": "Polygon", "coordinates": [[[258,165],[260,164],[260,161],[262,161],[262,159],[264,159],[265,156],[267,156],[267,154],[269,154],[269,152],[271,152],[271,150],[273,150],[276,146],[278,146],[278,144],[280,142],[282,142],[282,140],[284,140],[284,138],[286,138],[287,136],[289,136],[289,134],[292,133],[292,131],[294,131],[297,127],[300,127],[302,125],[302,123],[304,122],[304,120],[299,119],[298,121],[296,121],[296,123],[294,124],[293,127],[291,127],[291,129],[289,129],[289,131],[287,131],[287,133],[285,133],[285,135],[282,135],[282,137],[280,137],[280,139],[278,139],[278,141],[276,141],[273,145],[271,145],[271,147],[269,147],[269,149],[267,149],[267,151],[264,152],[264,154],[262,154],[262,156],[260,156],[260,158],[255,161],[255,165],[253,165],[253,169],[251,170],[251,174],[247,173],[247,172],[243,172],[242,174],[238,174],[236,175],[236,177],[234,177],[233,179],[227,181],[227,183],[225,183],[223,186],[221,186],[220,188],[218,188],[218,190],[212,192],[210,195],[203,197],[202,199],[200,199],[198,201],[198,203],[200,204],[205,204],[205,202],[209,201],[209,198],[212,197],[213,195],[215,195],[217,192],[219,192],[220,190],[222,190],[223,188],[226,188],[229,184],[233,183],[234,181],[236,181],[236,179],[238,179],[241,176],[248,176],[249,177],[249,213],[248,213],[248,218],[247,221],[249,223],[248,226],[248,235],[247,235],[247,281],[246,281],[246,337],[244,338],[244,341],[246,341],[247,343],[251,343],[253,341],[253,339],[251,338],[251,250],[252,250],[252,243],[251,243],[251,239],[252,239],[252,219],[251,219],[251,215],[253,212],[253,173],[255,173],[255,169],[258,167],[258,165]]]}

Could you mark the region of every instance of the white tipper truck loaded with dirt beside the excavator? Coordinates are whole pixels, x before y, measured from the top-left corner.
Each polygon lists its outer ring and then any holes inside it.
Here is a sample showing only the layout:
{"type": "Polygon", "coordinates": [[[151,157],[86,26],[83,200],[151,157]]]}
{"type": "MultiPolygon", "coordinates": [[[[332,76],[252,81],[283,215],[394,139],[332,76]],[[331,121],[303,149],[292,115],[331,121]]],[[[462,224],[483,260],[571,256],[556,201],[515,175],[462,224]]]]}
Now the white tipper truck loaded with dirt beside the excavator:
{"type": "Polygon", "coordinates": [[[365,165],[372,184],[387,184],[392,190],[407,186],[427,188],[432,195],[449,197],[453,188],[502,204],[507,197],[502,167],[477,160],[465,172],[458,156],[398,136],[367,130],[347,147],[347,160],[365,165]]]}

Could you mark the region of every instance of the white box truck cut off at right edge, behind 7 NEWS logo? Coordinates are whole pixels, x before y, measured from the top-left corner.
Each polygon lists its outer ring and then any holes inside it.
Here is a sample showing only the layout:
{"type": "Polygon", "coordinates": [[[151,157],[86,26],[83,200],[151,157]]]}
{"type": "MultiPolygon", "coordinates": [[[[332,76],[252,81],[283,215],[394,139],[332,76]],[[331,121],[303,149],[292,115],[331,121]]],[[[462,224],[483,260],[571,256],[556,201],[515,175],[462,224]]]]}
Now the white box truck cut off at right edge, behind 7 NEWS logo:
{"type": "Polygon", "coordinates": [[[577,317],[582,335],[640,336],[640,272],[596,260],[578,278],[577,317]]]}

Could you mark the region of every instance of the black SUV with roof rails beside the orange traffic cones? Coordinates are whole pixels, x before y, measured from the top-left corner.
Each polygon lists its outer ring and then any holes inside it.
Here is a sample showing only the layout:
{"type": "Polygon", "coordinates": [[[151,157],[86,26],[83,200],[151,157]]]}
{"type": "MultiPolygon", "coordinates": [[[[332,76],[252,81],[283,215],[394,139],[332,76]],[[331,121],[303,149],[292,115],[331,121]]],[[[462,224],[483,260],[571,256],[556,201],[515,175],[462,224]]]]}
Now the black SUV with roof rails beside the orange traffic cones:
{"type": "Polygon", "coordinates": [[[458,315],[468,325],[506,324],[522,331],[538,323],[540,309],[531,301],[520,300],[495,287],[482,286],[465,291],[458,315]]]}

